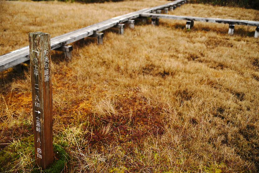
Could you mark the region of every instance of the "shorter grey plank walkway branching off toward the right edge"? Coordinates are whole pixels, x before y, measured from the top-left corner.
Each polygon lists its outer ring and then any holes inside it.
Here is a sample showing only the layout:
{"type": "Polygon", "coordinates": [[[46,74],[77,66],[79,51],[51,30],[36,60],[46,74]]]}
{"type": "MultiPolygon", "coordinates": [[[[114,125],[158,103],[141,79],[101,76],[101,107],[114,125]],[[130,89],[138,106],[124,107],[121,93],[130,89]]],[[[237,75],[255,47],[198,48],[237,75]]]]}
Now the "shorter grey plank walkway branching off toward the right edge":
{"type": "Polygon", "coordinates": [[[248,25],[248,26],[259,26],[259,21],[251,20],[235,20],[235,19],[219,19],[219,18],[204,18],[204,17],[194,17],[194,16],[177,16],[169,14],[154,14],[154,13],[143,13],[140,17],[153,17],[153,18],[163,18],[163,19],[176,19],[176,20],[187,20],[187,21],[199,21],[199,22],[210,22],[210,23],[222,23],[222,24],[238,24],[238,25],[248,25]]]}

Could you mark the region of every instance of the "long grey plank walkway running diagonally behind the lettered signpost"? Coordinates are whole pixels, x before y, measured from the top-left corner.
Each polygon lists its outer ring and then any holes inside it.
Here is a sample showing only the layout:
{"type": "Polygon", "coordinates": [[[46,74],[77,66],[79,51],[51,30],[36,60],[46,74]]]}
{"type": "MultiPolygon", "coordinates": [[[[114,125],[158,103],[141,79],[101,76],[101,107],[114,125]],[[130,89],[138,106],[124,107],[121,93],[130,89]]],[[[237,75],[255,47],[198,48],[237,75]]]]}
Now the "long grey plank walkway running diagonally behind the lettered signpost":
{"type": "MultiPolygon", "coordinates": [[[[117,16],[79,30],[75,30],[51,39],[51,50],[57,49],[74,41],[91,36],[97,32],[114,27],[117,24],[140,17],[140,14],[150,13],[156,10],[172,7],[184,3],[186,0],[176,0],[156,7],[145,8],[122,16],[117,16]]],[[[29,46],[22,47],[0,56],[0,72],[29,60],[29,46]]]]}

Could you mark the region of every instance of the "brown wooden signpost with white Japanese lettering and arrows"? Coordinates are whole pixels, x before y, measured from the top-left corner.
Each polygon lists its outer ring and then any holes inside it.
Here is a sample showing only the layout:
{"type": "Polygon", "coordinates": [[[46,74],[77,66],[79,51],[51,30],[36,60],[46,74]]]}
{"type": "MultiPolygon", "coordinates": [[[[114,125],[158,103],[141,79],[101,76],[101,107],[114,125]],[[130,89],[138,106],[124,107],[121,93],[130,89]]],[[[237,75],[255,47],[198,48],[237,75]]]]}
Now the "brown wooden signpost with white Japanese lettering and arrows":
{"type": "Polygon", "coordinates": [[[29,33],[34,149],[37,164],[53,161],[50,34],[29,33]]]}

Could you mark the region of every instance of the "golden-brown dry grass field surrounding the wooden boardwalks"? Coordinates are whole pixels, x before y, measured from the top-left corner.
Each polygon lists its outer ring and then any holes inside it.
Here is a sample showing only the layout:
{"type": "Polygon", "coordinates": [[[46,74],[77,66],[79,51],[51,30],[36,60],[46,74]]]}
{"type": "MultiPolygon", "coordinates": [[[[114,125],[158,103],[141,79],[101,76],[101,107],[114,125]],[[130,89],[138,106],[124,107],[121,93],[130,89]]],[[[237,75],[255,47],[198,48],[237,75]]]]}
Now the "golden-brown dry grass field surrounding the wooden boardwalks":
{"type": "MultiPolygon", "coordinates": [[[[0,1],[0,54],[114,16],[168,3],[0,1]]],[[[259,11],[185,4],[169,14],[259,21],[259,11]]],[[[259,171],[259,39],[255,27],[160,19],[104,44],[52,51],[53,140],[70,156],[62,172],[259,171]]],[[[30,71],[0,74],[0,172],[31,172],[30,71]]]]}

